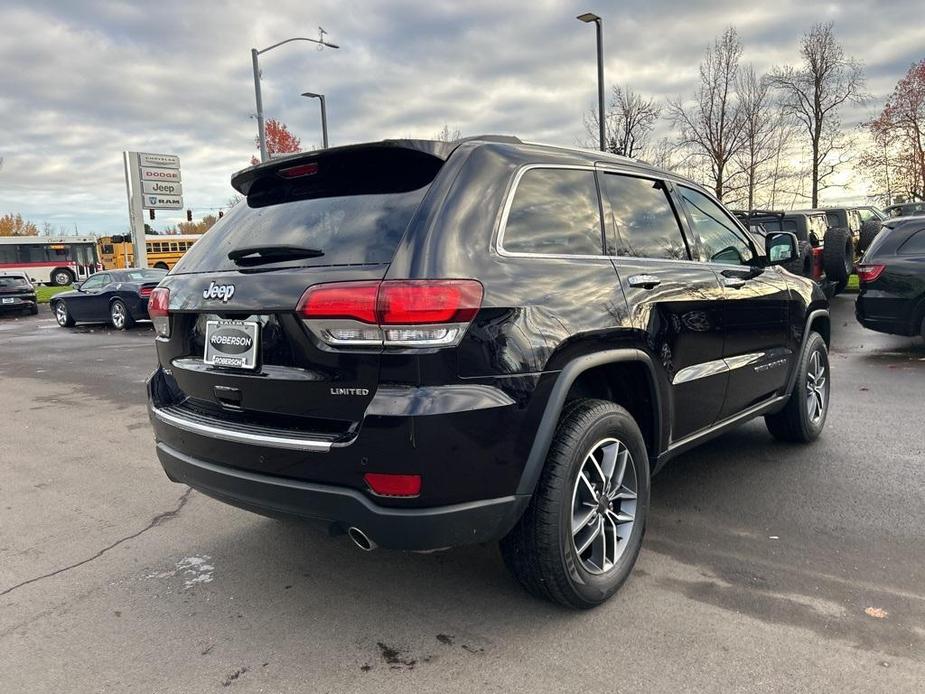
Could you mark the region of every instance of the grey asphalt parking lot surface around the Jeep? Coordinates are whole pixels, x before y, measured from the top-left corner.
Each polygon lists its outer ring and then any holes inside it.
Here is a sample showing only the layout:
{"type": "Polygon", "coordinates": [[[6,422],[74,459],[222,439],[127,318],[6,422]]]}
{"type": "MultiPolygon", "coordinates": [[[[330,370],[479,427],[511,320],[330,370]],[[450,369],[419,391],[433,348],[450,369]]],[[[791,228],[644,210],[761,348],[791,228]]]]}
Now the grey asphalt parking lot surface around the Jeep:
{"type": "Polygon", "coordinates": [[[822,438],[673,461],[630,580],[575,613],[495,547],[366,554],[172,484],[150,328],[0,318],[0,689],[922,691],[925,346],[851,296],[833,333],[822,438]]]}

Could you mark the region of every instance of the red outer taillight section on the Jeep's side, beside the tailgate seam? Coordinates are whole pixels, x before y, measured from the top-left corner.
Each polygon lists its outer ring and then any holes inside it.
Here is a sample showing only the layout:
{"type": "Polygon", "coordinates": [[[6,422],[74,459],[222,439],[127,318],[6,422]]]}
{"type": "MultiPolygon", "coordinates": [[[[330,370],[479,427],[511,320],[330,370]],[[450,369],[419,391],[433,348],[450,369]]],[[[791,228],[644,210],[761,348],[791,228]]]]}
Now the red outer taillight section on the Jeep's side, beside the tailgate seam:
{"type": "Polygon", "coordinates": [[[379,319],[383,325],[465,323],[482,304],[476,280],[408,280],[383,282],[379,319]]]}

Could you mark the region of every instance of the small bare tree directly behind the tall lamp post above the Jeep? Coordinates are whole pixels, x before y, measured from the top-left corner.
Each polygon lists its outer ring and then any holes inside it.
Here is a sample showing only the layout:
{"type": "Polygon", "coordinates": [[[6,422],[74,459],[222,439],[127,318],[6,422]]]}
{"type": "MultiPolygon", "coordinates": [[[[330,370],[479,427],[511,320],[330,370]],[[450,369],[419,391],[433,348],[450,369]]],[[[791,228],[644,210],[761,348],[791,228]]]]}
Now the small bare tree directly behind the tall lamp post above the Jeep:
{"type": "MultiPolygon", "coordinates": [[[[625,157],[642,156],[661,113],[655,99],[646,99],[628,86],[611,87],[610,108],[604,114],[607,151],[625,157]]],[[[588,111],[584,121],[589,143],[593,140],[596,148],[597,109],[588,111]]]]}

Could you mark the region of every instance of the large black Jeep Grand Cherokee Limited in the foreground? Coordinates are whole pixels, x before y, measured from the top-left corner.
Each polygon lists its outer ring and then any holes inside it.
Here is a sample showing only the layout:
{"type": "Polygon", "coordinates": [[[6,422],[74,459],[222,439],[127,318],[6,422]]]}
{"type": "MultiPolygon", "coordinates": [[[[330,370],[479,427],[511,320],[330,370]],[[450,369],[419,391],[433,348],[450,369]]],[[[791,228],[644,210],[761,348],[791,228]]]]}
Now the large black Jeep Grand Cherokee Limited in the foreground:
{"type": "Polygon", "coordinates": [[[152,294],[170,479],[376,545],[500,540],[533,593],[610,597],[649,478],[764,416],[825,423],[827,303],[701,187],[479,137],[294,155],[152,294]],[[772,259],[772,260],[769,260],[772,259]]]}

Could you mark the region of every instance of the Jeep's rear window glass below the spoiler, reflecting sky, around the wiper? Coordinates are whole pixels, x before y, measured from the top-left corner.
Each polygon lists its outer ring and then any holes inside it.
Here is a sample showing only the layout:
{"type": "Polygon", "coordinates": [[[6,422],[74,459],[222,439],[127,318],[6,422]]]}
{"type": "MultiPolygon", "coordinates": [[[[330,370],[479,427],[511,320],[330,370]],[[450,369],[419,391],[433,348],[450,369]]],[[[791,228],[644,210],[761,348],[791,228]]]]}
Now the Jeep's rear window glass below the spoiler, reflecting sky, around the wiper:
{"type": "Polygon", "coordinates": [[[235,205],[196,241],[174,274],[237,269],[228,259],[236,248],[303,246],[318,258],[281,261],[276,266],[380,264],[391,262],[427,187],[406,193],[340,195],[251,207],[235,205]]]}

